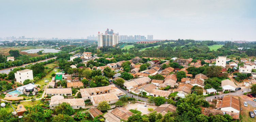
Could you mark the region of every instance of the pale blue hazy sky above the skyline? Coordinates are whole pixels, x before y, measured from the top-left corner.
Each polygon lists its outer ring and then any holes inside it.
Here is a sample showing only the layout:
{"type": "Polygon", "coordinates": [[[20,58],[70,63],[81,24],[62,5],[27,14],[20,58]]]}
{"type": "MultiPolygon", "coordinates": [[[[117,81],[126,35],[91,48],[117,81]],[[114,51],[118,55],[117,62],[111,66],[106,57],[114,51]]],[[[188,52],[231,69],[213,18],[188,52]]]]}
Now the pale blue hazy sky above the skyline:
{"type": "Polygon", "coordinates": [[[256,41],[256,0],[1,0],[0,37],[256,41]]]}

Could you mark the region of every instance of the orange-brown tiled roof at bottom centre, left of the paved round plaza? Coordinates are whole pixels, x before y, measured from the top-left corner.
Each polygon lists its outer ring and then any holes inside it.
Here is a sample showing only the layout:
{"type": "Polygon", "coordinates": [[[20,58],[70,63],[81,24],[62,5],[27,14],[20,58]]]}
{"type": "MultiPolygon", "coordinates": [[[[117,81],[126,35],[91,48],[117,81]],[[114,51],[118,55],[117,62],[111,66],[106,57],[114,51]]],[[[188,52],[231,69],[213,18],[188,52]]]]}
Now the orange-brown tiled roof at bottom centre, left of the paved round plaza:
{"type": "Polygon", "coordinates": [[[128,120],[128,117],[133,115],[131,111],[125,109],[124,107],[117,107],[112,110],[111,113],[121,120],[128,120]]]}

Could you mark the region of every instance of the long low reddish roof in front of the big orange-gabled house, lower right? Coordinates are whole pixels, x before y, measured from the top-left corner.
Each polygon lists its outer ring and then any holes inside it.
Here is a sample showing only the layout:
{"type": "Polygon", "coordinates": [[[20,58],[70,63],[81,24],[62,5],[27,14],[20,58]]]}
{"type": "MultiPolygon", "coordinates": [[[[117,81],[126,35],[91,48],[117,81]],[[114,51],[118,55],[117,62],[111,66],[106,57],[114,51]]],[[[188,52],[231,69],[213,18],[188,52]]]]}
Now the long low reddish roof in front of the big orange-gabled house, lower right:
{"type": "Polygon", "coordinates": [[[223,111],[223,110],[201,107],[201,113],[205,116],[218,115],[218,114],[223,115],[224,112],[225,112],[225,114],[230,115],[233,119],[239,119],[239,114],[238,113],[232,113],[232,112],[223,111]]]}

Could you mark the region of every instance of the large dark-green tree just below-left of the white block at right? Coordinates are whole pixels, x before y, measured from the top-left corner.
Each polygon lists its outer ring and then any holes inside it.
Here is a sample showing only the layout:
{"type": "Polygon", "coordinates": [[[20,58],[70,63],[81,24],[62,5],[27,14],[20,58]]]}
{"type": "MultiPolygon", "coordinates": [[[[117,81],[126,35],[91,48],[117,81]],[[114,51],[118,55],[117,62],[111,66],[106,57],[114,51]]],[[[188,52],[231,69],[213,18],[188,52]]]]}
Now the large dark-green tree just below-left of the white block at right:
{"type": "Polygon", "coordinates": [[[205,69],[206,75],[209,77],[218,77],[221,74],[221,66],[208,66],[205,69]]]}

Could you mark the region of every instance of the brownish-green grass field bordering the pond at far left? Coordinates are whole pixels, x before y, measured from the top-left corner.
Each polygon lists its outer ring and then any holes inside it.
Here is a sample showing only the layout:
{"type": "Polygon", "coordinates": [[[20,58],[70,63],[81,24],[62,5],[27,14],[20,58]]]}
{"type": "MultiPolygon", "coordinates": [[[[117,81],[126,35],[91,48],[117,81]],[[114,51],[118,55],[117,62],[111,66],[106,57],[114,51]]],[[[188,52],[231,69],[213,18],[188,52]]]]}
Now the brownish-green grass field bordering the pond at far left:
{"type": "MultiPolygon", "coordinates": [[[[7,47],[7,46],[0,46],[0,54],[2,55],[9,55],[9,51],[11,49],[18,49],[20,54],[22,50],[27,50],[27,49],[34,49],[34,48],[39,48],[39,46],[13,46],[13,47],[7,47]]],[[[23,52],[22,52],[23,53],[23,52]]],[[[26,53],[26,52],[24,52],[26,53]]],[[[39,55],[40,56],[40,55],[39,55]]]]}

